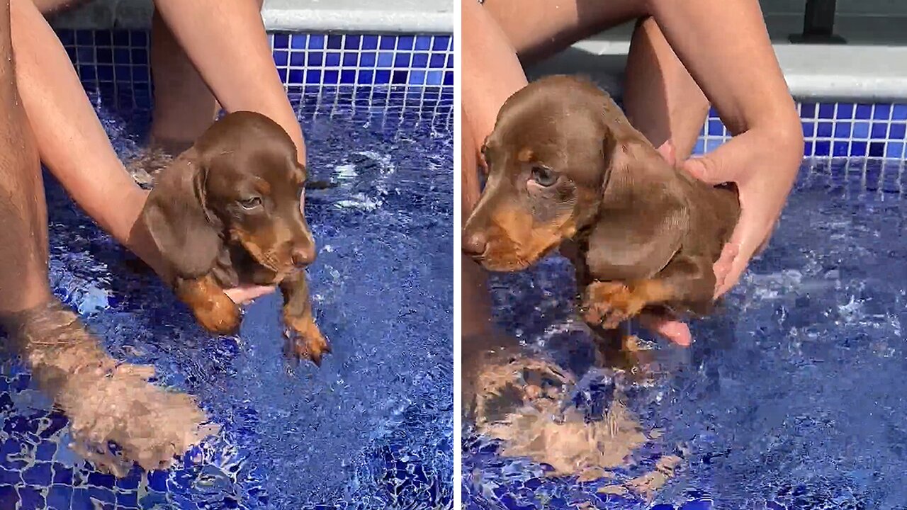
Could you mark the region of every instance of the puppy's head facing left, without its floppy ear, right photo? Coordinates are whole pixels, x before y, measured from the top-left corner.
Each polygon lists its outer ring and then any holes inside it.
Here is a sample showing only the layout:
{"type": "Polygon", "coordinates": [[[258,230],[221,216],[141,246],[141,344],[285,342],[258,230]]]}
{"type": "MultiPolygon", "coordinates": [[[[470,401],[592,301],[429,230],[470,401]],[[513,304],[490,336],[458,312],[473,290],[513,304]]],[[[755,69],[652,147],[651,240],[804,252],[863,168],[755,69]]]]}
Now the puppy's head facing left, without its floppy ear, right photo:
{"type": "Polygon", "coordinates": [[[589,226],[627,129],[591,83],[553,76],[514,93],[483,145],[488,181],[463,250],[488,270],[522,270],[589,226]]]}

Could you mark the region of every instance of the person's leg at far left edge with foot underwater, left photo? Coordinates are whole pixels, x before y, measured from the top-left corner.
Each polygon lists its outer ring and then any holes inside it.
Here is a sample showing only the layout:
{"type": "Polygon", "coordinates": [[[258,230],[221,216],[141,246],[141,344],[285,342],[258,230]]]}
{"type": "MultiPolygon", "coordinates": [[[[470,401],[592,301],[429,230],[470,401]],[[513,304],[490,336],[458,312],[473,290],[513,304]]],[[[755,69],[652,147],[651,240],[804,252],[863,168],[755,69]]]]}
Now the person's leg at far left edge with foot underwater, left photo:
{"type": "Polygon", "coordinates": [[[0,321],[33,380],[70,418],[77,451],[118,474],[133,461],[146,469],[167,466],[211,432],[201,426],[204,413],[190,397],[149,384],[152,368],[111,358],[50,292],[39,150],[18,96],[14,58],[20,34],[32,26],[11,30],[12,8],[0,1],[0,321]],[[110,441],[124,459],[97,453],[110,441]]]}

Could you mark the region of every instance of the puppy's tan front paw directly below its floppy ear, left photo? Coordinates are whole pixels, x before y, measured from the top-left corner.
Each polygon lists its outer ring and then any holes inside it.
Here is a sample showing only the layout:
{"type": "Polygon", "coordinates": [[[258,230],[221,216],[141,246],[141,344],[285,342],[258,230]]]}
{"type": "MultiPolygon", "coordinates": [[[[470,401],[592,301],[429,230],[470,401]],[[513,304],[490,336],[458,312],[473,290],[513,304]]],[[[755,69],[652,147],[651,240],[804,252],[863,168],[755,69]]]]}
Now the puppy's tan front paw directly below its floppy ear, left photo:
{"type": "Polygon", "coordinates": [[[239,307],[210,273],[191,280],[177,278],[173,289],[177,298],[192,309],[202,328],[219,335],[239,329],[239,307]]]}

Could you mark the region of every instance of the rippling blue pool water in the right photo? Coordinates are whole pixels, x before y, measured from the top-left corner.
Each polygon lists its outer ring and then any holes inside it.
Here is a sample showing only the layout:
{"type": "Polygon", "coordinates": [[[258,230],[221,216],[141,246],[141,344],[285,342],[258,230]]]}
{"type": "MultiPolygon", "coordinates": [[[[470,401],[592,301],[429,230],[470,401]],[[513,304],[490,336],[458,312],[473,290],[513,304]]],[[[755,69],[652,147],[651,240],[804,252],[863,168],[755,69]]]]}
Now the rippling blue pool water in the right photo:
{"type": "MultiPolygon", "coordinates": [[[[464,423],[466,506],[907,508],[905,189],[903,162],[805,162],[770,248],[722,311],[692,326],[691,348],[656,344],[660,369],[621,393],[644,436],[619,466],[551,476],[548,459],[505,456],[464,423]],[[665,475],[658,488],[633,490],[652,473],[665,475]]],[[[493,279],[499,323],[582,378],[590,337],[573,289],[560,257],[493,279]]]]}

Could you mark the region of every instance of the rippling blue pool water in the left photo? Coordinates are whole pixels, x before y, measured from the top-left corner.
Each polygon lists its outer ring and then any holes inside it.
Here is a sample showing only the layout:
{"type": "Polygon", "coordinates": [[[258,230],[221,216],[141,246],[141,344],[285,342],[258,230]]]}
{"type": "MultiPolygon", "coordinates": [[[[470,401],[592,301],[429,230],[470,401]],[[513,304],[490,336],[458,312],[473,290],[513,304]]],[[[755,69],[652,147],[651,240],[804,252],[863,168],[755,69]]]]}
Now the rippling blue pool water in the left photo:
{"type": "MultiPolygon", "coordinates": [[[[238,338],[204,333],[48,179],[55,293],[221,431],[170,470],[114,480],[73,456],[65,418],[8,362],[0,508],[451,507],[453,136],[437,105],[372,95],[294,99],[311,178],[336,184],[306,203],[313,307],[333,345],[321,368],[282,357],[278,295],[249,307],[238,338]]],[[[148,113],[96,103],[117,151],[134,152],[148,113]]]]}

